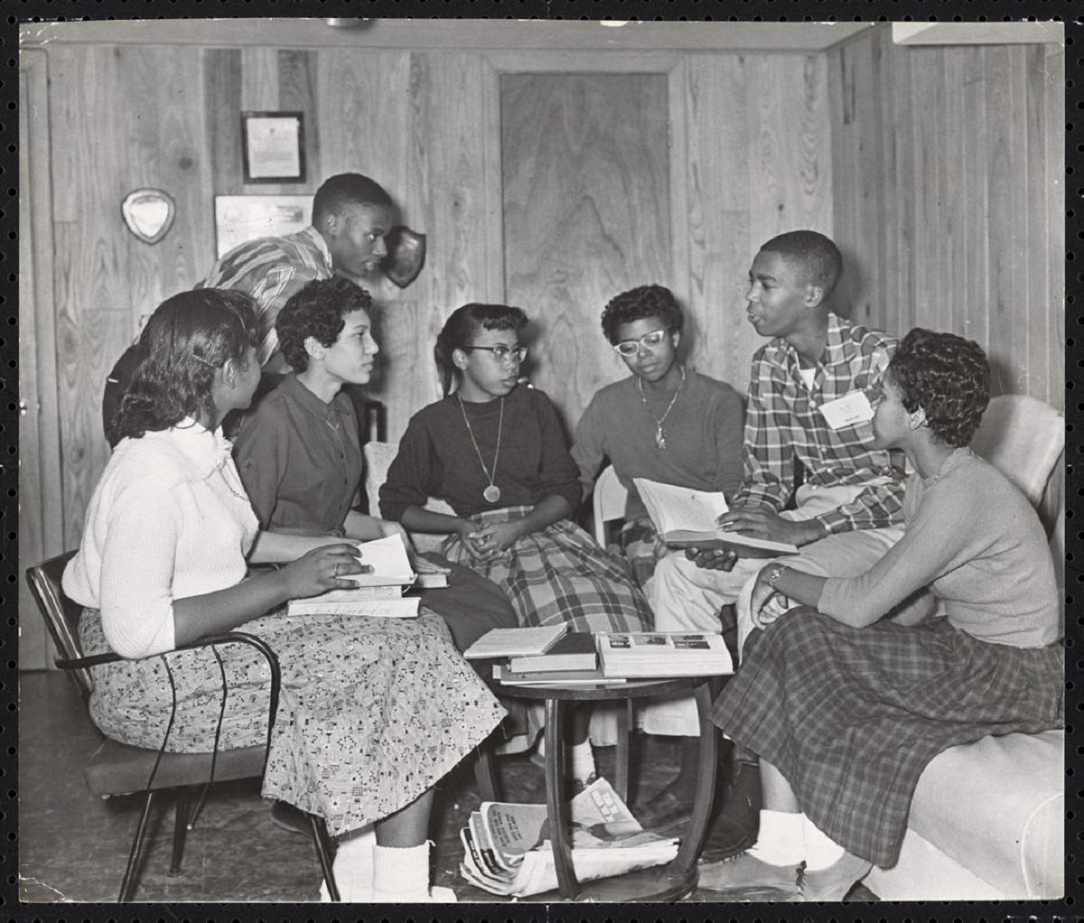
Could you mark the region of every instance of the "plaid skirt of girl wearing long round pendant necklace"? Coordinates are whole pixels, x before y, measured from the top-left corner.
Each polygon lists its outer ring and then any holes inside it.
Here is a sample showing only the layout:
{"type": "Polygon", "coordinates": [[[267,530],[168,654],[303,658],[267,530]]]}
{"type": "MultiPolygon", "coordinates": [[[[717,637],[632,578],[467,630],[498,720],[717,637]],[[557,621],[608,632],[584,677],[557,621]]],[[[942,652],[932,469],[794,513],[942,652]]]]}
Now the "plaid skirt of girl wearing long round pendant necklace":
{"type": "MultiPolygon", "coordinates": [[[[470,519],[482,525],[529,511],[512,506],[470,519]]],[[[492,561],[472,560],[459,535],[444,541],[442,554],[500,586],[520,625],[568,622],[573,632],[642,632],[654,624],[647,599],[621,563],[567,519],[524,535],[492,561]]]]}

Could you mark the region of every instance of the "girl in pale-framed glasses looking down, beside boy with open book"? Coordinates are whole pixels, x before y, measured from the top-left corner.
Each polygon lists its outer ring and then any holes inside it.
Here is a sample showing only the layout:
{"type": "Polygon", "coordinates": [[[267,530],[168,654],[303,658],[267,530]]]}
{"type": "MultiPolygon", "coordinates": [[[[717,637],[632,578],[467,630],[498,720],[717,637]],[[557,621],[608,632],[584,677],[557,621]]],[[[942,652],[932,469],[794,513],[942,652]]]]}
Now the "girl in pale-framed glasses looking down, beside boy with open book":
{"type": "Polygon", "coordinates": [[[666,554],[633,478],[730,495],[741,483],[744,410],[722,381],[678,362],[682,313],[669,288],[642,285],[612,298],[603,333],[632,373],[591,400],[572,440],[583,495],[608,458],[629,491],[619,544],[646,586],[666,554]]]}

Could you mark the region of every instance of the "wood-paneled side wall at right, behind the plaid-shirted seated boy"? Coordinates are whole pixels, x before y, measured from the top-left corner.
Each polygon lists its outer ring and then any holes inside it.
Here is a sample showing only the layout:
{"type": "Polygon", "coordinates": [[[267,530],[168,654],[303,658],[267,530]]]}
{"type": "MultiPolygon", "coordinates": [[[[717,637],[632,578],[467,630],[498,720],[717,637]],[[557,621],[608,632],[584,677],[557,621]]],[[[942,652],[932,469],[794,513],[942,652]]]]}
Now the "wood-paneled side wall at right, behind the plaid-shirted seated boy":
{"type": "Polygon", "coordinates": [[[853,316],[988,350],[995,393],[1064,400],[1062,46],[829,51],[836,240],[853,316]]]}

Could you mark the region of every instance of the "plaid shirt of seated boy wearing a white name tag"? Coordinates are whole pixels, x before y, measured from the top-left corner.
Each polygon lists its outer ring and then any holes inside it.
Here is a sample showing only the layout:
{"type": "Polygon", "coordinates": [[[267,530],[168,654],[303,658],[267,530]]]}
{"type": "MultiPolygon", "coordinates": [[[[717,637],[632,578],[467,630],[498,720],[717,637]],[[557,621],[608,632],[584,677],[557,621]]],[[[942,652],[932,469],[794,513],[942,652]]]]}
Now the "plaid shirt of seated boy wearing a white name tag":
{"type": "Polygon", "coordinates": [[[869,422],[831,429],[820,406],[880,385],[896,341],[828,314],[827,346],[812,390],[798,374],[798,353],[783,339],[752,360],[746,411],[745,477],[737,503],[778,512],[795,490],[793,458],[813,486],[866,484],[852,503],[815,517],[828,533],[881,529],[903,521],[903,453],[869,447],[869,422]]]}

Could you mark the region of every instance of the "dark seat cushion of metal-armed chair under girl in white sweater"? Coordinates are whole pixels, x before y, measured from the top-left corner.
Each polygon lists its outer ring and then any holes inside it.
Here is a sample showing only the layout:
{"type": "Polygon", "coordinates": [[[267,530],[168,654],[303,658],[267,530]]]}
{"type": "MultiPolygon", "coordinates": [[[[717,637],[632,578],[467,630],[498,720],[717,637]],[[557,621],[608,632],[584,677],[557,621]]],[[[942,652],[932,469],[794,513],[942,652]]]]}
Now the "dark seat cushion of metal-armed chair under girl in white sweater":
{"type": "MultiPolygon", "coordinates": [[[[264,746],[219,751],[215,780],[259,778],[263,775],[264,746]]],[[[104,740],[83,769],[93,795],[124,795],[146,788],[157,751],[104,740]]],[[[210,778],[209,753],[164,753],[153,789],[199,785],[210,778]]]]}

